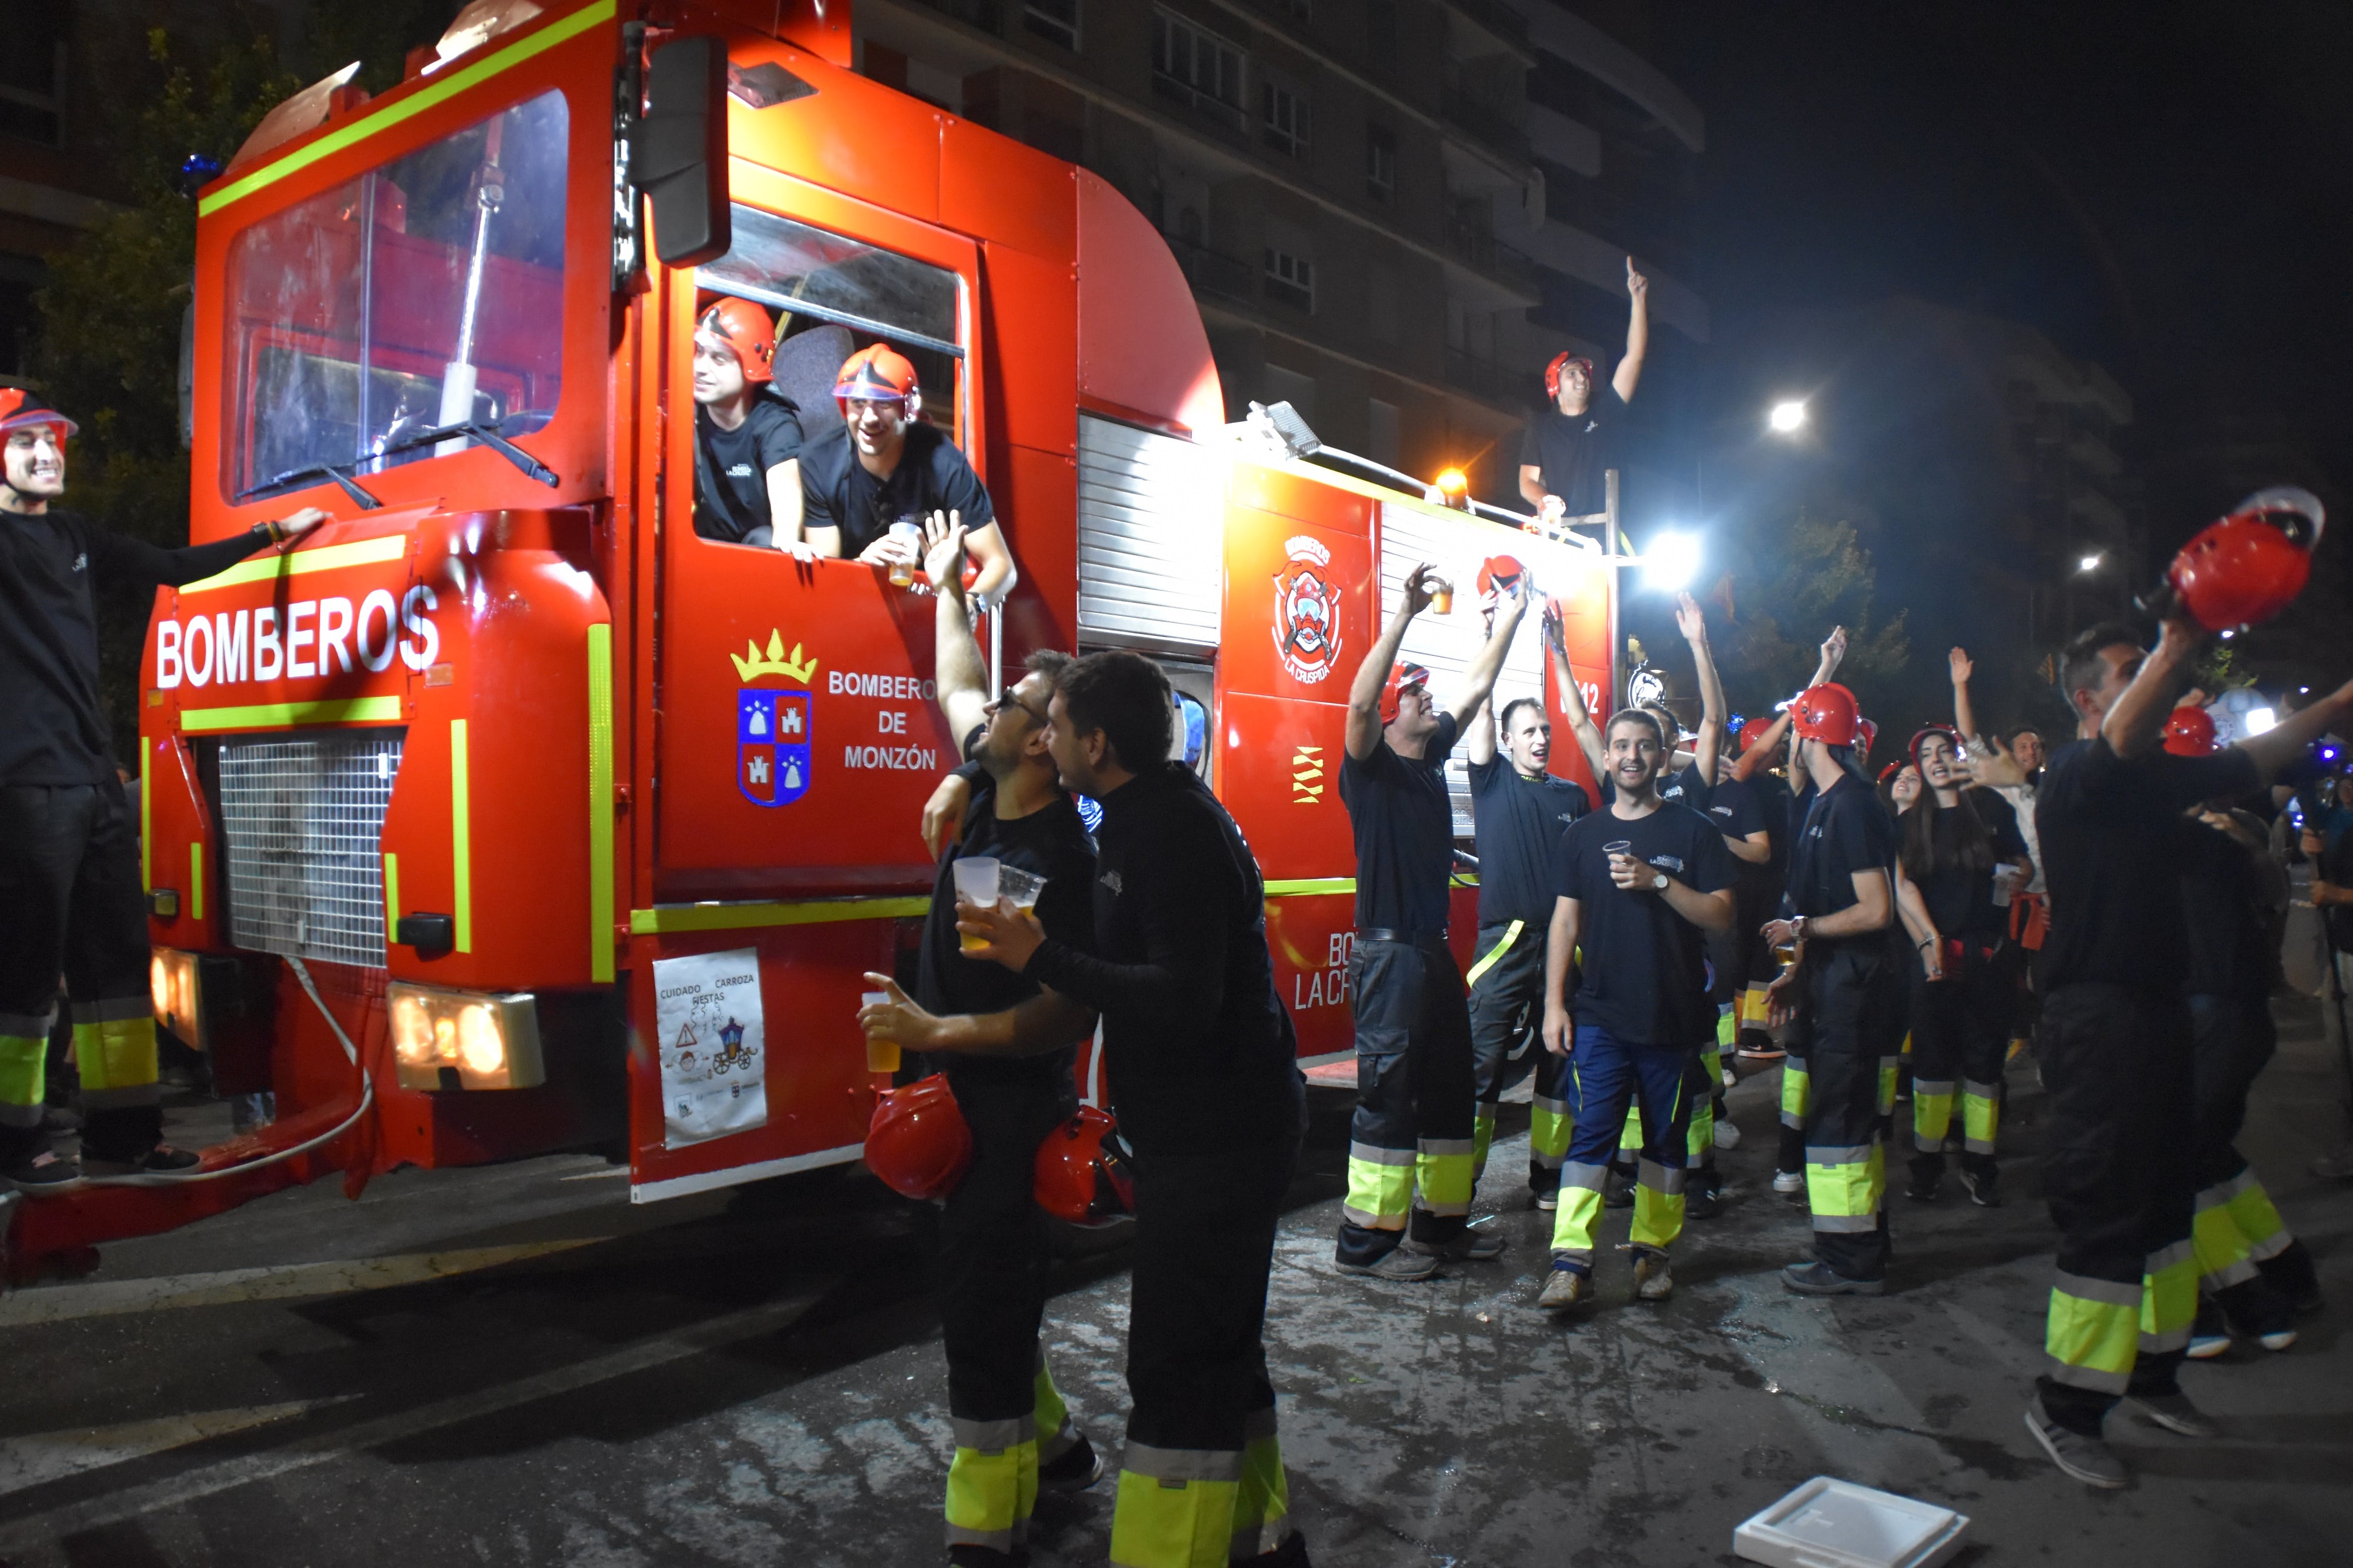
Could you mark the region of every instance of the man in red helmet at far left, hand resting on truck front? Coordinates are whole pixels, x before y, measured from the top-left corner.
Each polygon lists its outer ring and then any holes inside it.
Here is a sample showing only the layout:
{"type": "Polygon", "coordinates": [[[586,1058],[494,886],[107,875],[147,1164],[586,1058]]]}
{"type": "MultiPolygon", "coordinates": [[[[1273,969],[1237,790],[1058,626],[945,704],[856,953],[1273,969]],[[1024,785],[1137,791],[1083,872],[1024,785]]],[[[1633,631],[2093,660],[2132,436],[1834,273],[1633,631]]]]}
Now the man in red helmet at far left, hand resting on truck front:
{"type": "Polygon", "coordinates": [[[162,1142],[146,892],[99,702],[89,584],[191,584],[327,520],[304,509],[184,549],[94,527],[49,506],[66,494],[73,431],[40,398],[0,388],[0,1182],[26,1194],[85,1172],[151,1182],[198,1168],[162,1142]],[[40,1130],[59,975],[82,1071],[80,1161],[56,1158],[40,1130]]]}

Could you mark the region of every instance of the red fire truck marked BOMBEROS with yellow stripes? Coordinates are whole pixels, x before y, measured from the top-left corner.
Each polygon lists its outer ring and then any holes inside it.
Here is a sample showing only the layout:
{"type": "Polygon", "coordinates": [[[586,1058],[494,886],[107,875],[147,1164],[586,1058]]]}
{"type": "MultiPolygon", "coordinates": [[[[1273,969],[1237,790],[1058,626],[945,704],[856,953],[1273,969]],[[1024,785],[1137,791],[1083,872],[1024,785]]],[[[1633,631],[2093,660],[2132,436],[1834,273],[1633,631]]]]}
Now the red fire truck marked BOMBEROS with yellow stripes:
{"type": "Polygon", "coordinates": [[[19,1203],[19,1269],[329,1172],[607,1147],[656,1201],[859,1158],[861,972],[920,930],[955,737],[920,582],[694,532],[711,297],[779,318],[812,431],[854,348],[915,363],[1019,560],[998,666],[1136,647],[1200,699],[1311,1064],[1351,1048],[1344,704],[1405,570],[1466,589],[1407,643],[1440,690],[1511,551],[1581,690],[1529,626],[1499,702],[1600,704],[1600,556],[1228,428],[1151,221],[852,73],[845,12],[485,0],[200,193],[191,532],[334,523],[158,593],[141,852],[158,1017],[278,1121],[19,1203]]]}

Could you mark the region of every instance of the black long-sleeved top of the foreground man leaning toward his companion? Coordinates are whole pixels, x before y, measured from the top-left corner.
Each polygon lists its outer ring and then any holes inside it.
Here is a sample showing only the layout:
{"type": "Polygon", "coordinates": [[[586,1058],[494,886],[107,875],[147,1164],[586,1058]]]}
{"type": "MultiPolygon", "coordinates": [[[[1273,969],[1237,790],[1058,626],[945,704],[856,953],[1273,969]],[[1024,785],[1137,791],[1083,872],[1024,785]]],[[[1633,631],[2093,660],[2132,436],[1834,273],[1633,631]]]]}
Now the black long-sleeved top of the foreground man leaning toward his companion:
{"type": "Polygon", "coordinates": [[[1094,843],[1094,954],[1047,937],[1024,972],[1104,1015],[1120,1128],[1146,1158],[1299,1137],[1266,883],[1233,817],[1169,763],[1104,796],[1094,843]]]}

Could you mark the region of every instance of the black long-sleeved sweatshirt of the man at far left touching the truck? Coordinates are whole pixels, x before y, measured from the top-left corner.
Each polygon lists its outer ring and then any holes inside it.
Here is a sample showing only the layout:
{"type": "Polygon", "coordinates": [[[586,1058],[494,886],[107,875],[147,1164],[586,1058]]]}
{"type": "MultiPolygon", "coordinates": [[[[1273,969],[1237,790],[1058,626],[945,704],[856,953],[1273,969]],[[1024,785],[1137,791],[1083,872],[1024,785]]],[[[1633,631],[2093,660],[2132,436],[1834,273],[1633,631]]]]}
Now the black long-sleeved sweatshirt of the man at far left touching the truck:
{"type": "Polygon", "coordinates": [[[73,511],[0,511],[0,784],[113,784],[89,579],[153,591],[226,572],[268,527],[167,551],[73,511]]]}

